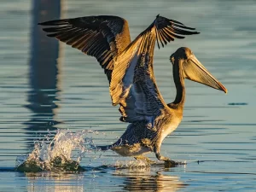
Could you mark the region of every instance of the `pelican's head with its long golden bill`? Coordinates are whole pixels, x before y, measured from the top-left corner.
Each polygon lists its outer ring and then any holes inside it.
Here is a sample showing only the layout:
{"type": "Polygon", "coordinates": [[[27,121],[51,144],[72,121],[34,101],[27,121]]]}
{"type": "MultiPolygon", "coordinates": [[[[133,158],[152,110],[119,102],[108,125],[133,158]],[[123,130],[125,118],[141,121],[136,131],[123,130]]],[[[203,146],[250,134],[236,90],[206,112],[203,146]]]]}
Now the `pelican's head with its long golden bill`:
{"type": "Polygon", "coordinates": [[[179,65],[182,67],[183,78],[198,82],[200,84],[206,84],[217,90],[223,90],[225,93],[228,90],[223,84],[218,82],[211,73],[209,73],[200,61],[198,61],[191,51],[187,47],[181,47],[177,49],[170,57],[172,65],[179,65]]]}

